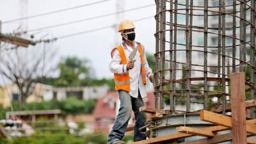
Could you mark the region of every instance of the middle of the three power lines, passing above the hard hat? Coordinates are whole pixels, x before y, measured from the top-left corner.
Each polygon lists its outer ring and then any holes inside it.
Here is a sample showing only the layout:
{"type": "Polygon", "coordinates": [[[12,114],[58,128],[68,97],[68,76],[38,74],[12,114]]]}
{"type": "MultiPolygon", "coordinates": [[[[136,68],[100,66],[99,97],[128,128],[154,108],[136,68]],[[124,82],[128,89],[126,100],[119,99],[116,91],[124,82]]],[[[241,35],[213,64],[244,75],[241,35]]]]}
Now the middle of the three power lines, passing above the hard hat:
{"type": "Polygon", "coordinates": [[[55,28],[55,27],[59,27],[59,26],[65,26],[65,25],[74,24],[74,23],[77,23],[77,22],[84,22],[84,21],[88,21],[88,20],[99,19],[99,18],[102,18],[102,17],[108,17],[110,15],[116,15],[118,13],[131,12],[133,10],[139,10],[141,8],[147,8],[147,7],[154,6],[154,5],[155,4],[148,4],[148,5],[140,6],[140,7],[137,7],[137,8],[131,8],[129,10],[123,10],[123,11],[115,12],[115,13],[108,13],[108,14],[99,15],[99,16],[96,16],[96,17],[89,17],[89,18],[86,18],[86,19],[74,20],[74,21],[71,21],[71,22],[64,22],[62,24],[55,24],[55,25],[52,25],[52,26],[45,26],[45,27],[42,27],[42,28],[30,29],[28,31],[21,31],[21,32],[18,32],[18,33],[15,33],[15,34],[19,35],[19,34],[28,33],[28,32],[31,32],[31,31],[40,31],[40,30],[43,30],[43,29],[49,29],[49,28],[55,28]]]}

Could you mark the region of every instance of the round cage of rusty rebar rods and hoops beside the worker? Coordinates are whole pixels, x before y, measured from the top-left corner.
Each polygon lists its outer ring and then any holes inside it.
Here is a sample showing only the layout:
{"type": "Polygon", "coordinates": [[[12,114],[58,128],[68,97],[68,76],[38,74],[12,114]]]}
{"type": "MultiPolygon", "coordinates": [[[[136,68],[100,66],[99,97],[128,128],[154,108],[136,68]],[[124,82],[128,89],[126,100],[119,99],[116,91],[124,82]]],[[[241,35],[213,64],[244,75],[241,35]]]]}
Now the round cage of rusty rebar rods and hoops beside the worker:
{"type": "Polygon", "coordinates": [[[156,0],[156,108],[193,112],[230,102],[229,74],[255,99],[255,0],[156,0]]]}

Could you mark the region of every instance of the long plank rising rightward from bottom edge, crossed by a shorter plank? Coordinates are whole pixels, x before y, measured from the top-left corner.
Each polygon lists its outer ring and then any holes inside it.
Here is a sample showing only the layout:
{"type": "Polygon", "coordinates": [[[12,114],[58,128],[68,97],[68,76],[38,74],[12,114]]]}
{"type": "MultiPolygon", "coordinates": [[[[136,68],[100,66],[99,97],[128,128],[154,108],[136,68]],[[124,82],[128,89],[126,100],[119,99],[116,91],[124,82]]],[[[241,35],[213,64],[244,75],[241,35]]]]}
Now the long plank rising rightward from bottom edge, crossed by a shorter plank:
{"type": "MultiPolygon", "coordinates": [[[[207,131],[224,131],[229,129],[228,127],[223,127],[220,125],[217,126],[212,126],[212,127],[205,127],[204,130],[207,131]]],[[[132,142],[130,144],[153,144],[153,143],[159,143],[159,142],[164,142],[164,141],[173,141],[173,140],[177,140],[179,138],[188,138],[190,136],[193,136],[193,134],[184,134],[181,132],[177,132],[175,134],[170,134],[167,136],[160,136],[157,138],[150,138],[147,140],[142,140],[142,141],[136,141],[136,142],[132,142]]]]}

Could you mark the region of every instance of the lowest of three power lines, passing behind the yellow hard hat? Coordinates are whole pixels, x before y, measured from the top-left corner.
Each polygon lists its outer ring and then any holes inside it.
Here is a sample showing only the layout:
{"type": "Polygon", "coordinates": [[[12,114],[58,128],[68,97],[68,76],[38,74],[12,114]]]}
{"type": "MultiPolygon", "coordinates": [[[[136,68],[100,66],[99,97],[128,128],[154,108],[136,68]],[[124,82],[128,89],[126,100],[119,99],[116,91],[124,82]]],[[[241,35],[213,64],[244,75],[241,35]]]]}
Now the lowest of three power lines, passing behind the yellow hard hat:
{"type": "MultiPolygon", "coordinates": [[[[143,17],[141,19],[136,19],[136,20],[133,20],[133,21],[136,22],[136,21],[146,20],[146,19],[150,19],[150,18],[154,18],[154,17],[153,16],[143,17]]],[[[81,31],[81,32],[72,33],[72,34],[69,34],[69,35],[58,36],[56,38],[51,38],[51,39],[47,39],[47,40],[37,40],[36,43],[56,41],[56,40],[59,40],[61,38],[68,38],[68,37],[71,37],[71,36],[82,35],[84,33],[91,33],[93,31],[99,31],[99,30],[102,30],[102,29],[113,28],[114,26],[117,26],[117,25],[118,24],[113,24],[111,26],[104,26],[104,27],[97,28],[97,29],[90,29],[90,30],[87,30],[87,31],[81,31]]]]}

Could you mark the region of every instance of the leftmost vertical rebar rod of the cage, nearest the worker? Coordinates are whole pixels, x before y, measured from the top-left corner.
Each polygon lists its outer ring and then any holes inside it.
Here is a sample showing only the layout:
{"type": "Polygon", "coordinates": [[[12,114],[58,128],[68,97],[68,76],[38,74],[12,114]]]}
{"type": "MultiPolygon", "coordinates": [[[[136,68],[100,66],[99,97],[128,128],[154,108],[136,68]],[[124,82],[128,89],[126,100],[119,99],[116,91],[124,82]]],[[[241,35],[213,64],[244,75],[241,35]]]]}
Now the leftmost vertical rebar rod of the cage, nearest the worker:
{"type": "Polygon", "coordinates": [[[155,83],[156,83],[156,86],[155,89],[156,89],[156,93],[155,93],[155,108],[159,108],[159,77],[158,77],[158,72],[159,72],[159,0],[156,0],[156,54],[155,54],[155,59],[156,59],[156,70],[157,70],[157,74],[155,74],[155,83]]]}

